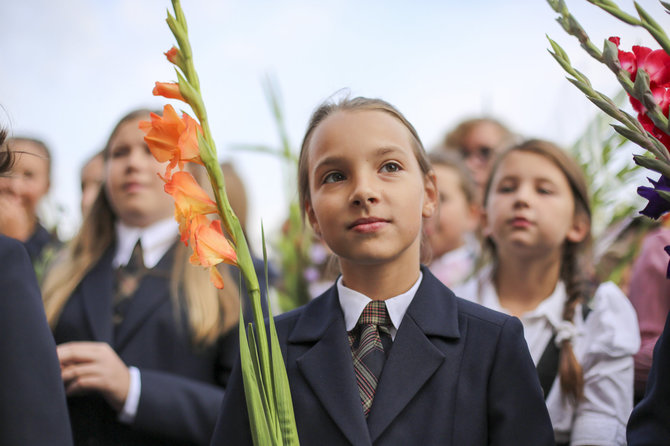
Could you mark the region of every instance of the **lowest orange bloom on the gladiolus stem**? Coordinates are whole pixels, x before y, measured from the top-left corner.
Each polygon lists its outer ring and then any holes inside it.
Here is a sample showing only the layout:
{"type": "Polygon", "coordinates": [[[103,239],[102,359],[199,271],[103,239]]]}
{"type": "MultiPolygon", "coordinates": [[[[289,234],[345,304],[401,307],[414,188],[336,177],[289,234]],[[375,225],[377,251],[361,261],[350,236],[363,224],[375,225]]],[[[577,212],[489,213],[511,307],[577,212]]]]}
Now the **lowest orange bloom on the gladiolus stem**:
{"type": "Polygon", "coordinates": [[[237,253],[230,245],[230,242],[223,235],[221,230],[221,222],[213,220],[207,222],[200,220],[195,224],[192,230],[193,240],[193,255],[189,259],[193,265],[201,265],[209,268],[210,279],[214,286],[223,288],[223,278],[216,269],[219,263],[228,263],[230,265],[237,264],[237,253]]]}

